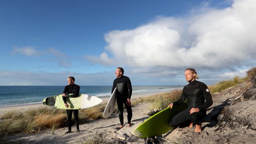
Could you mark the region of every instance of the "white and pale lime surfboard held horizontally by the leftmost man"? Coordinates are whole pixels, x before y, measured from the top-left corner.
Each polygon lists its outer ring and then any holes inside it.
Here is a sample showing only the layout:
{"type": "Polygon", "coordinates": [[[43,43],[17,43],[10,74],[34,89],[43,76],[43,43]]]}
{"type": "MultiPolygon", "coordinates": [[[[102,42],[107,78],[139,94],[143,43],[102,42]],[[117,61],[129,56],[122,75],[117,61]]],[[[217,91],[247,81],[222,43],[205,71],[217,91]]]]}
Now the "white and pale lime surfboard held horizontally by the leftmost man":
{"type": "Polygon", "coordinates": [[[96,96],[90,96],[88,94],[79,94],[77,97],[70,98],[70,94],[66,98],[69,107],[65,107],[65,103],[62,99],[62,94],[57,96],[51,96],[43,100],[43,104],[56,109],[86,109],[93,107],[102,102],[102,100],[96,96]]]}

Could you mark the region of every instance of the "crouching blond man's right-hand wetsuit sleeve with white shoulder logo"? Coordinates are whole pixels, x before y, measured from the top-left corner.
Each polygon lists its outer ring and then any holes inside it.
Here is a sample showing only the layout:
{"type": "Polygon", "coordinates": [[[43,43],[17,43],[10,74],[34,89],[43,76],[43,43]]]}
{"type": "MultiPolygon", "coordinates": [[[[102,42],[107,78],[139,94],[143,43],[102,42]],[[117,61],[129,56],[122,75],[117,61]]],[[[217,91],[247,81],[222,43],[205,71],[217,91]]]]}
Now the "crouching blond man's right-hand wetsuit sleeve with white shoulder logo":
{"type": "Polygon", "coordinates": [[[201,111],[201,110],[204,110],[204,109],[207,109],[208,107],[210,107],[213,102],[212,102],[210,91],[209,91],[208,87],[206,86],[206,84],[200,83],[199,89],[202,90],[202,93],[203,93],[203,96],[205,99],[204,104],[202,104],[200,107],[198,107],[198,109],[201,111]]]}

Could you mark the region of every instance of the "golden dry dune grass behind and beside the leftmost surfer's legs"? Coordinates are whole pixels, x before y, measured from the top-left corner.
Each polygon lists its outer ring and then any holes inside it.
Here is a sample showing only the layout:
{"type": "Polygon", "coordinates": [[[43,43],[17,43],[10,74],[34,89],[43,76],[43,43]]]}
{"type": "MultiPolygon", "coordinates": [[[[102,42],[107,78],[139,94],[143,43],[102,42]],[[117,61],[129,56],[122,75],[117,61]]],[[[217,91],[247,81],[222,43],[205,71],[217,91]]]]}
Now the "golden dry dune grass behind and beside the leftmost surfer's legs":
{"type": "MultiPolygon", "coordinates": [[[[79,111],[81,122],[101,118],[106,105],[97,105],[79,111]]],[[[0,135],[13,133],[33,133],[51,128],[52,133],[58,127],[66,126],[66,110],[48,107],[29,109],[24,113],[8,112],[1,117],[0,135]]]]}

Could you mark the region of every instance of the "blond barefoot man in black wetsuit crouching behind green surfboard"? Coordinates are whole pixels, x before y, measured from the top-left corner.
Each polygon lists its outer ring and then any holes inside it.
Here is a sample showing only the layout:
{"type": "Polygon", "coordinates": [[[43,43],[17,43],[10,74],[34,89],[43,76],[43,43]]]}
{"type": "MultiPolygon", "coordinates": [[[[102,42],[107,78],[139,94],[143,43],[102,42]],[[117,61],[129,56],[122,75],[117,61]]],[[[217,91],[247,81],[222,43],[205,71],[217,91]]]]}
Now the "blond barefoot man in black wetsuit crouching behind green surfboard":
{"type": "Polygon", "coordinates": [[[183,122],[186,122],[187,120],[190,120],[189,127],[193,127],[194,124],[194,132],[201,132],[201,122],[206,116],[206,109],[212,105],[211,94],[208,87],[204,83],[195,80],[198,79],[195,69],[186,69],[185,78],[189,84],[183,88],[180,99],[169,104],[168,107],[172,108],[173,106],[184,102],[185,98],[187,98],[188,107],[186,110],[174,116],[169,121],[169,125],[171,127],[175,127],[183,122]]]}

